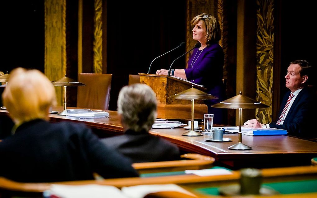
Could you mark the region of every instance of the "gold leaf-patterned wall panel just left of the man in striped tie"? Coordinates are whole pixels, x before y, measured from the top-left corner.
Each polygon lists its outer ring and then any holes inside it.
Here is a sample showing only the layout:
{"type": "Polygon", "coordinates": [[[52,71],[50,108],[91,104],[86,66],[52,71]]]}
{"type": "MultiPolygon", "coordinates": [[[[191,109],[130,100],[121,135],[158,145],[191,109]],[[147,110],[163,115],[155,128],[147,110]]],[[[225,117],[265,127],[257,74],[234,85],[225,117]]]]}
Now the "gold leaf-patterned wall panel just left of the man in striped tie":
{"type": "Polygon", "coordinates": [[[273,31],[274,1],[257,0],[257,79],[256,100],[269,105],[269,108],[256,109],[256,118],[261,123],[272,121],[272,85],[273,85],[273,31]]]}

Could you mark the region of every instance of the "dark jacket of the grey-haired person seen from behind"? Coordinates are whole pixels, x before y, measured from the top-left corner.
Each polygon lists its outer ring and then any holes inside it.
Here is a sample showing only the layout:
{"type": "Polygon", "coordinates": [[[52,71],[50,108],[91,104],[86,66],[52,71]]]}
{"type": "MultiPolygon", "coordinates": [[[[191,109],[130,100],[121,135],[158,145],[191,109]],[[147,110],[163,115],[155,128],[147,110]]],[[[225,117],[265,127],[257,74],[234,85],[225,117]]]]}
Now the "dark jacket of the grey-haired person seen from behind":
{"type": "Polygon", "coordinates": [[[127,130],[124,135],[104,138],[102,142],[129,157],[133,163],[179,160],[176,145],[147,131],[127,130]]]}

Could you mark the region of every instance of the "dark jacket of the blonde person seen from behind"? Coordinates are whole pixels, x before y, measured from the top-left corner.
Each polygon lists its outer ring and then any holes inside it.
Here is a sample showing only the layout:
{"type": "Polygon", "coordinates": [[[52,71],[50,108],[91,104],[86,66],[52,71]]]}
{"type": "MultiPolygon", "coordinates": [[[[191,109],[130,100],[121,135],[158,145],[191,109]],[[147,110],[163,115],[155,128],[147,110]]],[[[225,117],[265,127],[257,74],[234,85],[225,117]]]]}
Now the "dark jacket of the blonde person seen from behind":
{"type": "Polygon", "coordinates": [[[0,142],[0,176],[19,182],[136,177],[131,161],[81,124],[37,119],[0,142]]]}

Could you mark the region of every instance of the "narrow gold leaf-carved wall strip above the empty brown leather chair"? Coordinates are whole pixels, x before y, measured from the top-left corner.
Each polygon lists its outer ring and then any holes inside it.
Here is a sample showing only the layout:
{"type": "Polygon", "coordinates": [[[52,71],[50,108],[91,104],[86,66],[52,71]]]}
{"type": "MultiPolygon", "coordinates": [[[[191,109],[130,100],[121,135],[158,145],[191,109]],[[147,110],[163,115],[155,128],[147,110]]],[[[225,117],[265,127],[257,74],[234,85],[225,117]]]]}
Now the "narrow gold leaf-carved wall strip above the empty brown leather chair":
{"type": "Polygon", "coordinates": [[[94,73],[102,73],[102,0],[95,0],[94,73]]]}

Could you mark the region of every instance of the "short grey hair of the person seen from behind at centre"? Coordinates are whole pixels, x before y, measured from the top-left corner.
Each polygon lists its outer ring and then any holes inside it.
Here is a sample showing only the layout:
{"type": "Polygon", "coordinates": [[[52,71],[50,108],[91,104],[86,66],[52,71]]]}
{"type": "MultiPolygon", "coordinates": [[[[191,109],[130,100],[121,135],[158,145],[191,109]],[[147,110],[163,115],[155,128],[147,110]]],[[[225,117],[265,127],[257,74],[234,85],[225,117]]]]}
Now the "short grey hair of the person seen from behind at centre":
{"type": "Polygon", "coordinates": [[[135,132],[149,131],[157,112],[155,93],[146,84],[124,86],[118,97],[118,113],[122,125],[135,132]]]}

